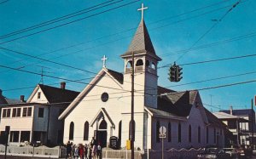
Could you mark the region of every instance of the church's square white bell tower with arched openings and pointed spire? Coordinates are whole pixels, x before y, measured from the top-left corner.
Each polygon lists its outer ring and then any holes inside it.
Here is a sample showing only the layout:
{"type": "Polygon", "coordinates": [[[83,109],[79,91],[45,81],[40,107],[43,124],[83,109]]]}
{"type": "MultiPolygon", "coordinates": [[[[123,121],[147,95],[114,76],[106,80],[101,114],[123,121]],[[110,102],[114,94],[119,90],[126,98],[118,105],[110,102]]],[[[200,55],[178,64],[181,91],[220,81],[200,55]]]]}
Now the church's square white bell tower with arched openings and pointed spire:
{"type": "Polygon", "coordinates": [[[157,65],[161,59],[155,54],[143,16],[127,52],[120,56],[125,62],[124,88],[126,90],[131,90],[132,54],[134,54],[134,109],[143,111],[144,105],[157,108],[157,65]]]}

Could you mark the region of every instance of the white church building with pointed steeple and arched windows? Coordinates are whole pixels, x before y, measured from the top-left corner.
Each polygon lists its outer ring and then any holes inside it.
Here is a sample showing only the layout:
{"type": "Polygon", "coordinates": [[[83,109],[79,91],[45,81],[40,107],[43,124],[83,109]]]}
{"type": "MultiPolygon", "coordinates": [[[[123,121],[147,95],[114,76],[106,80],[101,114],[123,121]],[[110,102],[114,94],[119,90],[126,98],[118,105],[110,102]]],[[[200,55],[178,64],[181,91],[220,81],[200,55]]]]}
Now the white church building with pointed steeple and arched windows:
{"type": "Polygon", "coordinates": [[[131,130],[131,65],[135,59],[134,121],[135,148],[161,149],[159,128],[166,127],[165,149],[224,146],[224,124],[207,111],[198,91],[176,92],[158,85],[155,53],[142,19],[130,47],[120,57],[124,72],[102,70],[62,112],[65,120],[63,142],[89,144],[96,137],[103,147],[119,139],[125,148],[131,130]]]}

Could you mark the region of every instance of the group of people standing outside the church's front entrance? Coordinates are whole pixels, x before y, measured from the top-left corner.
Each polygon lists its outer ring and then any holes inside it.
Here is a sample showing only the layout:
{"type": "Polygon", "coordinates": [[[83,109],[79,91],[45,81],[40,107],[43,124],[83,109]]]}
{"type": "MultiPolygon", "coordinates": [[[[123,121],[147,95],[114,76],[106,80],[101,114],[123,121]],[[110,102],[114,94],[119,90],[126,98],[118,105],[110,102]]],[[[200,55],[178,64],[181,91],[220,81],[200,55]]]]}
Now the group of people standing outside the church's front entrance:
{"type": "Polygon", "coordinates": [[[73,145],[73,142],[68,141],[66,158],[73,159],[101,159],[102,147],[100,143],[96,144],[94,137],[91,139],[90,144],[73,145]]]}

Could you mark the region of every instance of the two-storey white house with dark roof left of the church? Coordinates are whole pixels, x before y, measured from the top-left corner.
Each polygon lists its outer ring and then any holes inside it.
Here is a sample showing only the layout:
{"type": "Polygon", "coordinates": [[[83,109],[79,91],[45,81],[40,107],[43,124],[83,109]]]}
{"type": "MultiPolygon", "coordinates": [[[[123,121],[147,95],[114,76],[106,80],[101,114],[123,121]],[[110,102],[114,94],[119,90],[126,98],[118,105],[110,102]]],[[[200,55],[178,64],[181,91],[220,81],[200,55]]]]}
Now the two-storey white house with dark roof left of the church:
{"type": "Polygon", "coordinates": [[[20,103],[1,106],[0,131],[3,133],[10,126],[11,145],[25,141],[40,141],[44,145],[62,143],[63,121],[58,116],[79,94],[65,89],[65,84],[61,82],[61,88],[38,84],[26,102],[20,96],[20,103]]]}

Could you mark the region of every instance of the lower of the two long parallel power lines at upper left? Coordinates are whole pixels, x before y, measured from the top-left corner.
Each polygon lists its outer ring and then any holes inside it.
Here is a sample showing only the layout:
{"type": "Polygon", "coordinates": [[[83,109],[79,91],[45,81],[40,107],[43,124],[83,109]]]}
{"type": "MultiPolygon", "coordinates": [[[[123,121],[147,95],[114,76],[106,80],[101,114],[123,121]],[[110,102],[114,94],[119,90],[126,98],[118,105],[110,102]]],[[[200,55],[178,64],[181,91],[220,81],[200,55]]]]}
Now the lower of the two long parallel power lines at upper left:
{"type": "Polygon", "coordinates": [[[130,4],[132,4],[132,3],[137,3],[138,1],[140,1],[140,0],[136,0],[136,1],[133,1],[133,2],[131,2],[131,3],[125,3],[125,4],[119,5],[119,6],[117,6],[117,7],[114,7],[114,8],[112,8],[112,9],[106,9],[106,10],[104,10],[104,11],[102,11],[102,12],[99,12],[99,13],[96,13],[96,14],[91,14],[91,15],[88,15],[88,16],[86,16],[86,17],[84,17],[84,18],[80,18],[80,19],[78,19],[78,20],[72,20],[72,21],[69,21],[69,22],[67,22],[67,23],[63,23],[63,24],[58,25],[58,26],[49,27],[49,28],[44,29],[44,30],[42,30],[42,31],[33,32],[33,33],[28,34],[28,35],[26,35],[26,36],[17,37],[17,38],[11,39],[11,40],[9,40],[9,41],[6,41],[6,42],[0,43],[0,44],[10,43],[10,42],[19,40],[19,39],[24,38],[24,37],[30,37],[30,36],[32,36],[32,35],[36,35],[36,34],[38,34],[38,33],[42,33],[42,32],[44,32],[44,31],[49,31],[49,30],[52,30],[52,29],[55,29],[55,28],[58,28],[58,27],[61,27],[61,26],[67,26],[67,25],[72,24],[72,23],[74,23],[74,22],[77,22],[77,21],[80,21],[80,20],[85,20],[85,19],[88,19],[88,18],[90,18],[90,17],[96,16],[96,15],[98,15],[98,14],[104,14],[104,13],[107,13],[107,12],[112,11],[112,10],[114,10],[114,9],[119,9],[119,8],[125,7],[125,6],[127,6],[127,5],[130,5],[130,4]]]}

